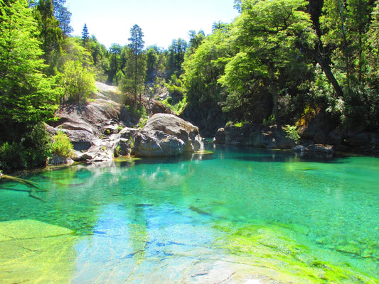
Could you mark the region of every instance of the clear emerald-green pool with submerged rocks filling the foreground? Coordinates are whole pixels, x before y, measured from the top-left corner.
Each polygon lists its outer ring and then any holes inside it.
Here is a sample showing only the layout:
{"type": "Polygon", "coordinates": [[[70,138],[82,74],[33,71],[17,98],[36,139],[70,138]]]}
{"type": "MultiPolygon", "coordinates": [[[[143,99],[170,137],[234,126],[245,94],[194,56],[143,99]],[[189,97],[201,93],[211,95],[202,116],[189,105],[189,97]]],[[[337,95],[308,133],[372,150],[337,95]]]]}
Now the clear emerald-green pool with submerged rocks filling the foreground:
{"type": "Polygon", "coordinates": [[[210,147],[0,183],[0,282],[379,283],[378,158],[210,147]]]}

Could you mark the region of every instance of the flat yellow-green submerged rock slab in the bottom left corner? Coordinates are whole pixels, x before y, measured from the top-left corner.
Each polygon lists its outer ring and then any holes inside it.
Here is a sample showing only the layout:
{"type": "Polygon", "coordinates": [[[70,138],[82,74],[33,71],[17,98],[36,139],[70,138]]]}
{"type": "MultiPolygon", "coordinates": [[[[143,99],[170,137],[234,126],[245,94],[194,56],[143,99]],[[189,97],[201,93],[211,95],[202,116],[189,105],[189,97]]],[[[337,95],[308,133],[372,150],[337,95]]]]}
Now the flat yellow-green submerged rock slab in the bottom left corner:
{"type": "Polygon", "coordinates": [[[35,220],[0,222],[0,282],[70,283],[78,236],[35,220]]]}

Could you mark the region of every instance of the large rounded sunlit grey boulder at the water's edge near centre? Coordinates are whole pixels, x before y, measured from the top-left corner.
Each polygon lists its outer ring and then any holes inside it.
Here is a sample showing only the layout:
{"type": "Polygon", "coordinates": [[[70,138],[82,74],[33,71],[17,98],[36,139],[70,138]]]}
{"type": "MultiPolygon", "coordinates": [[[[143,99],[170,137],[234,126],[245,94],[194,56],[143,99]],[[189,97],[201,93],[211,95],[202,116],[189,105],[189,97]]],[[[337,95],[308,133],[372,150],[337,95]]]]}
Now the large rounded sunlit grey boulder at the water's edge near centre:
{"type": "Polygon", "coordinates": [[[134,133],[134,155],[173,156],[203,147],[198,127],[173,114],[154,114],[142,131],[134,133]]]}

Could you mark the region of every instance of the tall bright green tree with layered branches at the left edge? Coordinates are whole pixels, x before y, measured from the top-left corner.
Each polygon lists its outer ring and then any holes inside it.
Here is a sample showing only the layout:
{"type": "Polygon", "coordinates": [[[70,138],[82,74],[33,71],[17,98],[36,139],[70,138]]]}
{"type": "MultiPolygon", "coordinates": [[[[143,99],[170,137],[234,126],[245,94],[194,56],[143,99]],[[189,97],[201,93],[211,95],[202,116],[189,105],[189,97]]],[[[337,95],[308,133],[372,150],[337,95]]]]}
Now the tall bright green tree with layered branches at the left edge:
{"type": "Polygon", "coordinates": [[[26,0],[0,0],[1,142],[19,139],[40,121],[53,119],[58,99],[53,79],[43,74],[43,51],[26,0]]]}

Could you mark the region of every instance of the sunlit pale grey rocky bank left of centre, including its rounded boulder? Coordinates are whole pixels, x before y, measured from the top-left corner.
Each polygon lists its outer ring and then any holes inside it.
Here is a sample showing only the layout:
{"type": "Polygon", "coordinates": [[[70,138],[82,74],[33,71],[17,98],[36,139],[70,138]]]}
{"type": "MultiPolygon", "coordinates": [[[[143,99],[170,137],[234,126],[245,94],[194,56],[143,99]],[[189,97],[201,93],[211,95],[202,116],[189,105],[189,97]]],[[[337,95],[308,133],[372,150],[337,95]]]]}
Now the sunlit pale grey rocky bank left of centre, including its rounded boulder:
{"type": "MultiPolygon", "coordinates": [[[[173,156],[199,151],[203,138],[198,127],[164,111],[160,104],[149,102],[150,118],[137,129],[138,121],[126,107],[109,99],[96,99],[86,105],[70,104],[57,111],[59,120],[48,132],[63,131],[74,146],[73,160],[101,162],[117,155],[139,157],[173,156]]],[[[69,163],[57,157],[53,164],[69,163]]]]}

